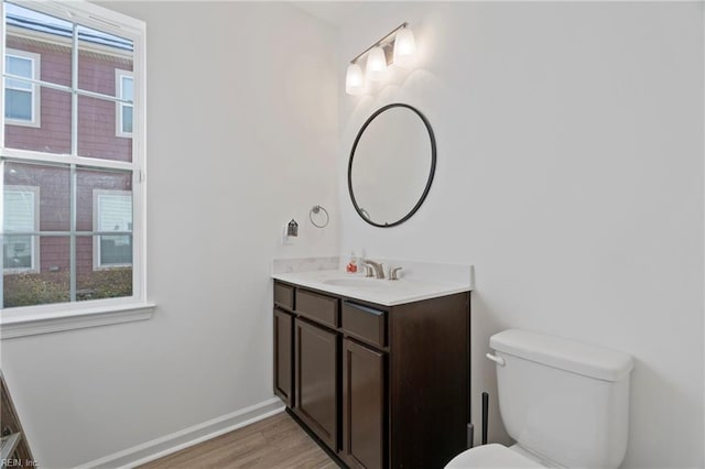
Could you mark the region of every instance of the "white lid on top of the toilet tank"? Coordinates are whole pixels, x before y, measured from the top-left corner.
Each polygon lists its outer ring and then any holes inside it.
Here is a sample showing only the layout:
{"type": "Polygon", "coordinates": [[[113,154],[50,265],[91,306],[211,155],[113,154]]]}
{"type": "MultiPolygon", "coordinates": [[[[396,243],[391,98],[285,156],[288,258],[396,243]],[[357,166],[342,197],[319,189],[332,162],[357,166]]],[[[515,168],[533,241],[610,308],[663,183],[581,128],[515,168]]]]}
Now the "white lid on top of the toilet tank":
{"type": "Polygon", "coordinates": [[[628,353],[528,330],[495,334],[489,346],[525,360],[605,381],[620,381],[633,368],[628,353]]]}

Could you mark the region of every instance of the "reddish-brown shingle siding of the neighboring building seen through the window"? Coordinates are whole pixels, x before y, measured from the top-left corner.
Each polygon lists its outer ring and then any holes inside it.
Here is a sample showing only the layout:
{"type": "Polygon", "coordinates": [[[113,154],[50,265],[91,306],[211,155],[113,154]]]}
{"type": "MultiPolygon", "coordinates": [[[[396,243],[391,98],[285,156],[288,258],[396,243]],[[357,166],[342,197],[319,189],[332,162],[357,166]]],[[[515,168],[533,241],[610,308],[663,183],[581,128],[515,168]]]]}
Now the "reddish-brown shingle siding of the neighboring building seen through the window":
{"type": "MultiPolygon", "coordinates": [[[[7,36],[7,46],[41,55],[41,79],[64,86],[72,84],[70,48],[57,44],[7,36]]],[[[116,68],[132,70],[132,62],[79,51],[78,81],[82,89],[109,96],[116,95],[116,68]]],[[[70,153],[70,94],[42,88],[41,127],[6,126],[9,148],[70,153]]],[[[116,135],[116,103],[102,99],[79,97],[78,150],[84,156],[116,161],[132,160],[132,139],[116,135]]],[[[40,230],[66,231],[69,227],[69,173],[67,168],[8,164],[7,185],[40,187],[40,230]],[[10,170],[15,168],[12,173],[10,170]]],[[[91,231],[94,189],[131,190],[129,174],[96,171],[78,172],[77,229],[91,231]]],[[[40,240],[41,271],[68,271],[69,248],[67,237],[42,237],[40,240]]],[[[93,271],[91,237],[76,240],[77,274],[93,271]]]]}

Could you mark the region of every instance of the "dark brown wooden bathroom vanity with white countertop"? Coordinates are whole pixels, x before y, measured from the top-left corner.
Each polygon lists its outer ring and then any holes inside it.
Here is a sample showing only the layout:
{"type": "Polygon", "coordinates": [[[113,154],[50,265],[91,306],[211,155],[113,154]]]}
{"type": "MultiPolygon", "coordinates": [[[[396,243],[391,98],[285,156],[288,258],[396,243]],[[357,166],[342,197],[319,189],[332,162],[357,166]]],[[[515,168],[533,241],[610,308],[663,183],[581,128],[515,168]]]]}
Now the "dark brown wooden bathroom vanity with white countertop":
{"type": "Polygon", "coordinates": [[[467,448],[469,287],[330,275],[274,275],[274,393],[349,467],[443,467],[467,448]]]}

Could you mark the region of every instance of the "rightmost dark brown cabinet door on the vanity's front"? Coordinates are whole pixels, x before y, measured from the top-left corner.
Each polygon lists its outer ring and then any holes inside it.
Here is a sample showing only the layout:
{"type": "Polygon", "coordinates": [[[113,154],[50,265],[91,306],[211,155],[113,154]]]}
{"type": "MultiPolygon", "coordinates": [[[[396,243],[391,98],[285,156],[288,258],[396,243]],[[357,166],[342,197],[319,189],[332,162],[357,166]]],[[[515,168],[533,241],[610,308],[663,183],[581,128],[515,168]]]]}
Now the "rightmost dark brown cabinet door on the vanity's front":
{"type": "Polygon", "coordinates": [[[343,341],[343,457],[350,467],[386,467],[384,358],[343,341]]]}

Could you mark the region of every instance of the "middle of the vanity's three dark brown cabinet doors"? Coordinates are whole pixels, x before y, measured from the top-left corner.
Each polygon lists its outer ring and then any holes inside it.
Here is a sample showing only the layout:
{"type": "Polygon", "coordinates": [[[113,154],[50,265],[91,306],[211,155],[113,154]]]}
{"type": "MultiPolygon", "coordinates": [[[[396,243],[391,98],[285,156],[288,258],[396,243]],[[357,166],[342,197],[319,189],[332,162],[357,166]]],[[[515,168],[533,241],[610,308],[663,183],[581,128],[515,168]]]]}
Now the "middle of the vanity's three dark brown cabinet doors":
{"type": "Polygon", "coordinates": [[[337,451],[338,335],[296,318],[294,338],[294,412],[337,451]]]}

